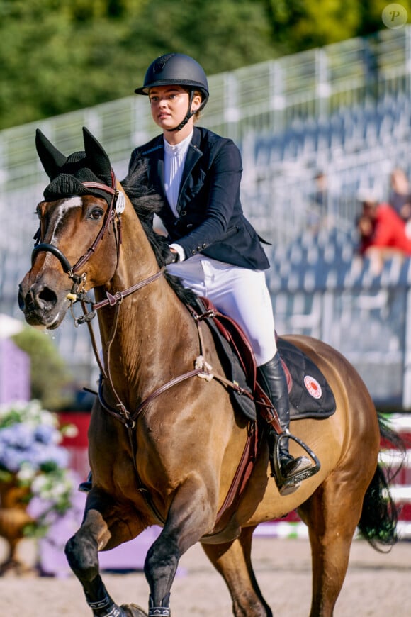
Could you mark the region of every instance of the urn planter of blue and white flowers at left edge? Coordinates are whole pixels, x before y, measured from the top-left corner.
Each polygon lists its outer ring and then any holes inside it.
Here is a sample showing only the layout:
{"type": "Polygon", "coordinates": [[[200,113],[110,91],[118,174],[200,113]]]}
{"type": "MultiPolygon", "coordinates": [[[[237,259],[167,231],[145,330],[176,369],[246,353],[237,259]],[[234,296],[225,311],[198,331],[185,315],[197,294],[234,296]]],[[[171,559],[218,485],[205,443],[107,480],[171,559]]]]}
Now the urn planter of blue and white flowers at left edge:
{"type": "Polygon", "coordinates": [[[70,431],[39,401],[0,405],[0,536],[9,548],[0,575],[22,569],[16,550],[24,536],[41,538],[71,506],[69,455],[60,446],[70,431]]]}

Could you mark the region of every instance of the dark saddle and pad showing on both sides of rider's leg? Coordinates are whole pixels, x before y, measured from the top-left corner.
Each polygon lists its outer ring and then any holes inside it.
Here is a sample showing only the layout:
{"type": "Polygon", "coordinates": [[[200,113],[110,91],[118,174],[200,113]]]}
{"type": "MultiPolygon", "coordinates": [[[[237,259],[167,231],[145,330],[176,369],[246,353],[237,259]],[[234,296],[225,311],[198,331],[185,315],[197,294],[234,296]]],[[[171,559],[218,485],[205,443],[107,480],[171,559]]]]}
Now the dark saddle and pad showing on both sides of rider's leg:
{"type": "MultiPolygon", "coordinates": [[[[227,379],[240,387],[230,389],[232,404],[247,419],[256,421],[257,365],[247,336],[232,318],[215,309],[209,299],[198,299],[198,309],[213,334],[227,379]]],[[[334,394],[317,365],[281,337],[277,338],[277,347],[286,373],[291,419],[332,416],[336,408],[334,394]]]]}

